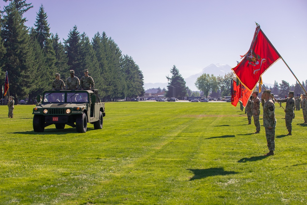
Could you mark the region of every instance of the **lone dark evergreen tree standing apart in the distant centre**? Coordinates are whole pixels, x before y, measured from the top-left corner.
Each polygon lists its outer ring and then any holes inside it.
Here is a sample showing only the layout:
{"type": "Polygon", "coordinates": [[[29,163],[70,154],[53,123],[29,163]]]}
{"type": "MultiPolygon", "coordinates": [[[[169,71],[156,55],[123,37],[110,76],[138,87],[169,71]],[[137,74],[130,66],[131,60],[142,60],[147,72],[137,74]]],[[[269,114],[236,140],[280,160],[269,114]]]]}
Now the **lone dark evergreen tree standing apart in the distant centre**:
{"type": "Polygon", "coordinates": [[[166,77],[169,81],[169,84],[167,85],[166,97],[174,96],[176,98],[179,98],[187,96],[187,86],[185,85],[185,80],[179,73],[179,70],[176,68],[176,65],[173,65],[173,68],[170,70],[170,73],[172,74],[172,77],[166,77]]]}

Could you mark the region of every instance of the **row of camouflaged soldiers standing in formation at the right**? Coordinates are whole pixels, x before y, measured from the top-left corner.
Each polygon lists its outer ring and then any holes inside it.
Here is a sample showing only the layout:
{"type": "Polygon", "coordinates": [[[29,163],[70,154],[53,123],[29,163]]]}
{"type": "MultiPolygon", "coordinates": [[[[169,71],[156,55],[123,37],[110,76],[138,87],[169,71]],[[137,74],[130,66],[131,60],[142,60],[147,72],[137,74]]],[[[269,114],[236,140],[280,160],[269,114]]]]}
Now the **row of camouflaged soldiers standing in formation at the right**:
{"type": "MultiPolygon", "coordinates": [[[[306,94],[302,95],[301,106],[303,109],[303,116],[304,116],[304,123],[307,124],[307,97],[306,94]]],[[[289,92],[289,97],[282,100],[277,100],[277,102],[282,103],[286,102],[285,108],[285,119],[286,119],[286,128],[288,129],[288,136],[292,135],[292,120],[294,119],[294,109],[300,107],[300,101],[294,99],[294,92],[289,92]]],[[[261,102],[263,107],[263,126],[265,127],[266,131],[266,140],[267,146],[269,148],[269,153],[266,155],[274,155],[275,150],[275,126],[276,126],[276,119],[275,119],[275,101],[273,94],[271,94],[270,90],[265,90],[262,93],[261,102]],[[274,129],[273,129],[274,128],[274,129]]],[[[241,109],[242,110],[242,109],[241,109]]],[[[246,112],[247,112],[247,119],[248,124],[251,124],[251,116],[254,117],[254,123],[256,126],[256,132],[254,134],[260,133],[260,99],[258,98],[258,91],[254,91],[252,93],[251,98],[247,102],[246,105],[246,112]]]]}

